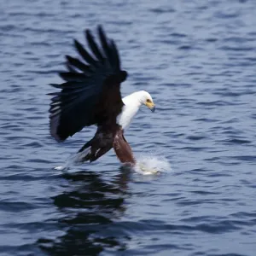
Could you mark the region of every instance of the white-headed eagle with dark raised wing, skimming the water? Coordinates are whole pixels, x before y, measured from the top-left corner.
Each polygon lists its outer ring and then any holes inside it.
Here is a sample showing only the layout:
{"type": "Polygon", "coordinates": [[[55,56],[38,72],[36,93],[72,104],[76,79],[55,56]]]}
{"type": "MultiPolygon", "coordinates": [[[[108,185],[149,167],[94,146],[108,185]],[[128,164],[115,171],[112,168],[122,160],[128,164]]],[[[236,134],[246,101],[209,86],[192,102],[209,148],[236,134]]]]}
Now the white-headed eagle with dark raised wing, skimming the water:
{"type": "Polygon", "coordinates": [[[90,30],[84,31],[88,49],[74,39],[79,57],[66,55],[67,71],[59,73],[63,83],[50,84],[61,89],[49,93],[50,135],[64,142],[84,126],[96,125],[95,136],[78,152],[82,161],[95,161],[113,148],[121,163],[135,165],[124,131],[142,105],[154,112],[154,102],[145,90],[122,98],[120,85],[127,72],[121,69],[119,51],[102,26],[97,34],[99,44],[90,30]]]}

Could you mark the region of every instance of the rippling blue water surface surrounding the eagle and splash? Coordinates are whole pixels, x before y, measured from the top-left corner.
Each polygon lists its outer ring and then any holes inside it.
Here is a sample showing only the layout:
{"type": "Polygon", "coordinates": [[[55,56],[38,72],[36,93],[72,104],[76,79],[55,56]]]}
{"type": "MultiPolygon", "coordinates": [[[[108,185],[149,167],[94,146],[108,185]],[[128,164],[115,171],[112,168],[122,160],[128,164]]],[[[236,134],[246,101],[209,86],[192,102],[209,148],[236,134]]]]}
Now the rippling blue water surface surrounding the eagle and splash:
{"type": "Polygon", "coordinates": [[[255,255],[254,1],[2,1],[0,254],[255,255]],[[102,24],[129,73],[123,96],[148,90],[126,139],[165,157],[148,175],[113,151],[62,165],[94,134],[49,136],[49,83],[73,38],[102,24]]]}

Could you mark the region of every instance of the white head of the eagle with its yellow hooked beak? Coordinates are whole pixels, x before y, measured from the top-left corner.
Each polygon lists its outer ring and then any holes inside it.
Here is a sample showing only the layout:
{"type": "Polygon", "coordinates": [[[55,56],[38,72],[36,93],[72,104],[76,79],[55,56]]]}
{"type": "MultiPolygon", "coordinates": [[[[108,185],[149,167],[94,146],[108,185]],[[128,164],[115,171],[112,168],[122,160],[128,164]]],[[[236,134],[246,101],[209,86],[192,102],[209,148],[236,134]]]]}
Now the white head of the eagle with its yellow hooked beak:
{"type": "Polygon", "coordinates": [[[152,112],[155,110],[154,102],[148,91],[145,90],[139,90],[134,93],[132,93],[129,96],[126,96],[123,99],[123,102],[125,105],[128,105],[129,103],[136,104],[138,107],[141,105],[147,106],[152,112]]]}

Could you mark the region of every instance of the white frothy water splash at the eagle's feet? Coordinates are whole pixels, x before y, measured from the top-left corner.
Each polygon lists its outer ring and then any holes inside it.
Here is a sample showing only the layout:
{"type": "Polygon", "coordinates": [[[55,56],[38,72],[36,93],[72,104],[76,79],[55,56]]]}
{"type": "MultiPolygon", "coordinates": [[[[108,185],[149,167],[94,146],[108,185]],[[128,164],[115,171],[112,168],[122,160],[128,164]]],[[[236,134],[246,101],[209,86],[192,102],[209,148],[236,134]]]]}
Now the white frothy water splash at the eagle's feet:
{"type": "Polygon", "coordinates": [[[152,175],[160,174],[161,172],[171,172],[172,167],[166,160],[166,157],[146,154],[137,158],[137,164],[134,166],[134,170],[143,175],[152,175]]]}

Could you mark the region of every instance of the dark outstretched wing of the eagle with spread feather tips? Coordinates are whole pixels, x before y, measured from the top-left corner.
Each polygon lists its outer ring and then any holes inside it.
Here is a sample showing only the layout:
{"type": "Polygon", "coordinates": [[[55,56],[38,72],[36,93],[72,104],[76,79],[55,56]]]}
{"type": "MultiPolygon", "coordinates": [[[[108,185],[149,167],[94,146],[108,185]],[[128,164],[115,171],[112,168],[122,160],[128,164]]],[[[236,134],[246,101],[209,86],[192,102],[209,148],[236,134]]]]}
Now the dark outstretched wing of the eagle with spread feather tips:
{"type": "Polygon", "coordinates": [[[61,89],[49,94],[53,96],[49,108],[50,134],[59,142],[84,126],[115,122],[124,105],[120,83],[127,73],[120,69],[116,45],[106,37],[102,26],[98,26],[101,49],[90,30],[84,33],[91,53],[74,40],[80,58],[67,55],[68,71],[60,73],[65,82],[51,84],[61,89]]]}

